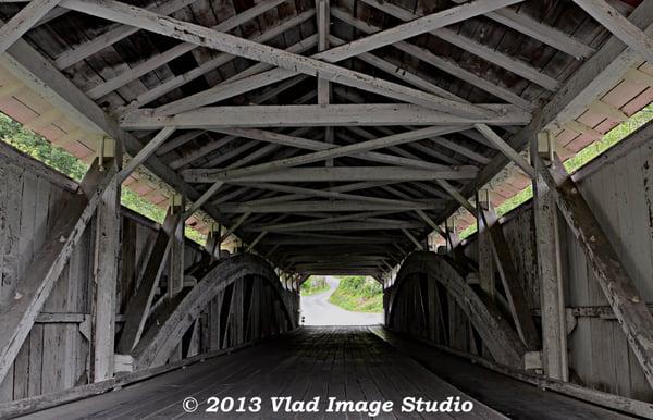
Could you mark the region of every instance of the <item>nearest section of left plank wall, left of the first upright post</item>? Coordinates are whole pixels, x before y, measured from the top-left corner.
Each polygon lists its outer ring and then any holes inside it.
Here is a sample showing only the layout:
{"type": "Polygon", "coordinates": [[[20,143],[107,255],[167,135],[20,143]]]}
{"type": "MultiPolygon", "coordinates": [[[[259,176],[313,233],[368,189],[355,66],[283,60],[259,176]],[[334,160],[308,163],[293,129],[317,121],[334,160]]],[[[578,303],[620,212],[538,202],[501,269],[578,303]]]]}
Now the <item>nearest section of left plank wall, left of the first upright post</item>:
{"type": "MultiPolygon", "coordinates": [[[[0,305],[13,299],[16,286],[48,228],[62,214],[59,207],[72,193],[0,156],[0,305]]],[[[87,230],[44,311],[88,312],[90,231],[87,230]]],[[[88,345],[77,324],[36,324],[12,371],[0,384],[0,400],[11,400],[74,385],[85,370],[88,345]],[[42,351],[47,348],[47,351],[42,351]]]]}

